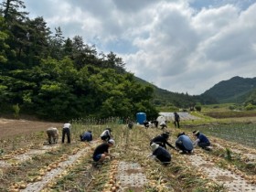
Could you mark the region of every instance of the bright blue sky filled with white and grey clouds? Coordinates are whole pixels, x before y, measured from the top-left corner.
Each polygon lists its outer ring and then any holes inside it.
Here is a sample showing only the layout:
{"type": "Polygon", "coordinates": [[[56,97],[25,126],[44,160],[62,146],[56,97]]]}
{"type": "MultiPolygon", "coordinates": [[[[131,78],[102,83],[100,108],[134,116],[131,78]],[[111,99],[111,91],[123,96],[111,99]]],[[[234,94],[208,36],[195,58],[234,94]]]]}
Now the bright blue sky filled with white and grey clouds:
{"type": "Polygon", "coordinates": [[[256,0],[25,0],[29,17],[114,52],[127,71],[199,95],[221,80],[256,77],[256,0]]]}

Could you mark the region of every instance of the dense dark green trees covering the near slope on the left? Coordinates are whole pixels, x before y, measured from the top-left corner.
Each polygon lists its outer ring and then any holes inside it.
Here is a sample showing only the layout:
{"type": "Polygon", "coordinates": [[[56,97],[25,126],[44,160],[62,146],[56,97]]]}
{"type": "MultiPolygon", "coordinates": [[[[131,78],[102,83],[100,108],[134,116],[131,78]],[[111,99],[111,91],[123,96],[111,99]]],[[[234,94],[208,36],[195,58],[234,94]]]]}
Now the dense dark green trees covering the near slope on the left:
{"type": "Polygon", "coordinates": [[[92,116],[157,116],[154,88],[127,72],[122,58],[98,53],[82,37],[50,31],[43,17],[29,18],[21,0],[0,9],[0,111],[51,120],[92,116]]]}

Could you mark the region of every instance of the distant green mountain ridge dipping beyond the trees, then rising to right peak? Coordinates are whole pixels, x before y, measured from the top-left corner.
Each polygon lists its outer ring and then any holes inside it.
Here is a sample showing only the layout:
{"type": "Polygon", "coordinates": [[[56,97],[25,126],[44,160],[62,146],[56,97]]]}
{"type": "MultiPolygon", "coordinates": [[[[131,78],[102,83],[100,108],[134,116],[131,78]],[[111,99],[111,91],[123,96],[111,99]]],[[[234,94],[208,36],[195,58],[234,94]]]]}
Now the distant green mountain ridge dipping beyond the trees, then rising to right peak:
{"type": "Polygon", "coordinates": [[[178,107],[188,107],[189,103],[215,104],[215,103],[242,103],[251,98],[256,91],[256,78],[242,78],[234,76],[229,80],[221,80],[207,91],[199,95],[189,95],[167,91],[154,84],[135,77],[145,85],[152,85],[155,90],[155,105],[168,105],[172,103],[178,107]]]}

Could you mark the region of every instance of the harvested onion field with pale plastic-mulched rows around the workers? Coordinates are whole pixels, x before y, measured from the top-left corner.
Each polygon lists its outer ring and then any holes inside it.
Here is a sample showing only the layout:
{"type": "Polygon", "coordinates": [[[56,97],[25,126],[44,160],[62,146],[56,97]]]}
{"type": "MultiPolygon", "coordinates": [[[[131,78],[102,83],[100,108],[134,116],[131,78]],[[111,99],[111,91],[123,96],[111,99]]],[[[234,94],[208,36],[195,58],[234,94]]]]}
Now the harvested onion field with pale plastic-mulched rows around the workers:
{"type": "MultiPolygon", "coordinates": [[[[232,127],[223,126],[218,133],[229,137],[222,138],[210,127],[197,128],[209,135],[213,150],[196,148],[193,155],[180,155],[167,148],[172,164],[163,166],[147,158],[150,139],[162,133],[160,129],[134,125],[130,130],[114,120],[101,124],[80,120],[72,122],[71,144],[48,145],[45,131],[49,126],[58,127],[60,132],[62,123],[0,121],[0,191],[256,191],[255,145],[228,140],[241,130],[239,127],[230,131],[232,127]],[[116,142],[111,149],[115,158],[94,167],[91,155],[101,144],[99,135],[107,126],[112,128],[116,142]],[[81,143],[79,135],[88,129],[94,140],[81,143]]],[[[253,134],[255,138],[255,126],[244,129],[251,134],[245,132],[243,140],[253,134]]],[[[182,131],[193,139],[192,130],[169,124],[165,131],[172,133],[169,142],[174,144],[176,134],[182,131]]]]}

